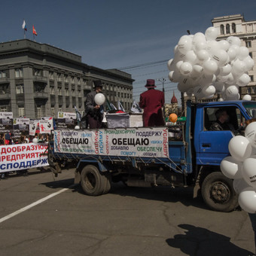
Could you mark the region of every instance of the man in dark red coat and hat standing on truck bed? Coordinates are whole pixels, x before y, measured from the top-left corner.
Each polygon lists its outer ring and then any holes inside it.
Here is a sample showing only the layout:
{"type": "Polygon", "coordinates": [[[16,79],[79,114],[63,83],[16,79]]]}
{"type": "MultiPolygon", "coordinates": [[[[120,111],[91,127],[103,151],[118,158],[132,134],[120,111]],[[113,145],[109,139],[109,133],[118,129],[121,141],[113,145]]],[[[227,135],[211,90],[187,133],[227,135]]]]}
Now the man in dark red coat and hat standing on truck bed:
{"type": "Polygon", "coordinates": [[[163,111],[164,94],[155,90],[154,79],[148,79],[145,85],[147,91],[140,95],[139,106],[144,108],[143,126],[164,126],[163,111]]]}

